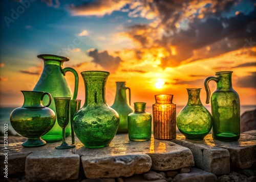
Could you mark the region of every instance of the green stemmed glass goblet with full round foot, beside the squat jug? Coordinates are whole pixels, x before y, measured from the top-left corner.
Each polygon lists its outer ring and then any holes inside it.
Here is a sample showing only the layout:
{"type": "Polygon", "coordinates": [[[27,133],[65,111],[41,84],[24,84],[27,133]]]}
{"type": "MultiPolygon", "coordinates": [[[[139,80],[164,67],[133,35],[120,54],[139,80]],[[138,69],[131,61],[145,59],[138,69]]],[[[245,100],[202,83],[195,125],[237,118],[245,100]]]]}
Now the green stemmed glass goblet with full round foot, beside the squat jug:
{"type": "Polygon", "coordinates": [[[62,128],[62,143],[56,146],[57,149],[66,149],[75,147],[66,143],[65,128],[69,123],[70,97],[54,97],[56,116],[59,126],[62,128]]]}

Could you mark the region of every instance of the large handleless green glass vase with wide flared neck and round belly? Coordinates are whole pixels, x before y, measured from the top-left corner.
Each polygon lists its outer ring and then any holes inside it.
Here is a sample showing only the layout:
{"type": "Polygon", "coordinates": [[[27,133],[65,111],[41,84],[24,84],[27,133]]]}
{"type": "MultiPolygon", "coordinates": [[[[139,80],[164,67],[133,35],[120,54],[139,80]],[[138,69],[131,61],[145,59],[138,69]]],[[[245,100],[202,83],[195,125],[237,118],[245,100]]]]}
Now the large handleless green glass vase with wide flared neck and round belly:
{"type": "Polygon", "coordinates": [[[106,103],[105,88],[109,72],[84,71],[86,99],[83,107],[73,117],[77,138],[88,148],[108,146],[119,125],[117,112],[106,103]]]}

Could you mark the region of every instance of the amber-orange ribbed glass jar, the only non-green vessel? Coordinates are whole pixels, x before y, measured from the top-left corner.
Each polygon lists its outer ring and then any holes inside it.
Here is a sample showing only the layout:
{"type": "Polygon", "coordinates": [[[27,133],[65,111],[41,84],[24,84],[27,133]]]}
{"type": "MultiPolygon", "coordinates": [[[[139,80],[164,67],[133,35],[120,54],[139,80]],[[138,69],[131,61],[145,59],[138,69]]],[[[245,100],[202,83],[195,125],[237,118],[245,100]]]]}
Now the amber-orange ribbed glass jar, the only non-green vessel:
{"type": "Polygon", "coordinates": [[[176,138],[176,104],[172,94],[155,95],[153,104],[154,138],[169,140],[176,138]]]}

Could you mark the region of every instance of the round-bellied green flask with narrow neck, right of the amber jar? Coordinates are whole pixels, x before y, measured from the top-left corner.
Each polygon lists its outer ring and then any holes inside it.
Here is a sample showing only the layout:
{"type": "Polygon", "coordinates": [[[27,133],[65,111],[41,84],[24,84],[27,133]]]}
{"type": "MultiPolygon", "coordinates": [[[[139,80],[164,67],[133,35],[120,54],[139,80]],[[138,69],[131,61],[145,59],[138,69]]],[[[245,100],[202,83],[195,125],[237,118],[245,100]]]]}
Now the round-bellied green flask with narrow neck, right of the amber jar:
{"type": "Polygon", "coordinates": [[[177,116],[179,131],[190,140],[203,140],[212,127],[212,117],[202,105],[200,90],[201,88],[187,89],[187,104],[177,116]]]}

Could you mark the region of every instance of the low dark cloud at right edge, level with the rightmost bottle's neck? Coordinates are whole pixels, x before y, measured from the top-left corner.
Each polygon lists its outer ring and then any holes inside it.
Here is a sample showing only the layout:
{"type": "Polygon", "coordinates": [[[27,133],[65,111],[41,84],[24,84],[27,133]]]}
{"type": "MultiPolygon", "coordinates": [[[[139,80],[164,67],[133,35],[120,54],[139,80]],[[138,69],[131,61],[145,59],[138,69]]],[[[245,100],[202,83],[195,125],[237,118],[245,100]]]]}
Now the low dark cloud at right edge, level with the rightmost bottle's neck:
{"type": "Polygon", "coordinates": [[[256,88],[256,72],[250,72],[250,75],[239,77],[236,81],[237,87],[256,88]]]}

